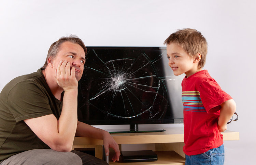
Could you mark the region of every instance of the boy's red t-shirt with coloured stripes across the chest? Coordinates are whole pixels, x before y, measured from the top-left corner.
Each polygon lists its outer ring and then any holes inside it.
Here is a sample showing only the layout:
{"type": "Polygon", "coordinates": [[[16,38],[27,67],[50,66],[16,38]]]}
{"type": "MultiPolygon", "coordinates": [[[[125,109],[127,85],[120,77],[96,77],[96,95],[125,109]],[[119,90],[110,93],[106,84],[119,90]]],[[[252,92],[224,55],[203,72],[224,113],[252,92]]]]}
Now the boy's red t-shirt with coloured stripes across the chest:
{"type": "Polygon", "coordinates": [[[220,104],[232,97],[221,89],[207,70],[185,77],[181,85],[184,153],[196,155],[221,146],[223,135],[217,128],[220,104]]]}

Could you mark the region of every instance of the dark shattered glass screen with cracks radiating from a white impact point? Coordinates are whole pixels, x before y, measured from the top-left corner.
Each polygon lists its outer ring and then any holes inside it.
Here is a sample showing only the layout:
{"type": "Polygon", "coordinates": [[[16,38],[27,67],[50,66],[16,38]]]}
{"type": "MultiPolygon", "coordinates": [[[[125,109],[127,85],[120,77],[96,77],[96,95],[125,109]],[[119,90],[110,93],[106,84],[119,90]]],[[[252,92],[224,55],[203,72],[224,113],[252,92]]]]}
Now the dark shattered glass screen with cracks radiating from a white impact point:
{"type": "MultiPolygon", "coordinates": [[[[102,119],[161,118],[167,110],[166,84],[174,80],[163,73],[166,52],[151,55],[144,50],[120,51],[90,49],[80,80],[83,101],[80,115],[99,113],[102,119]]],[[[156,51],[159,53],[159,51],[156,51]]],[[[171,116],[172,114],[170,114],[171,116]]]]}

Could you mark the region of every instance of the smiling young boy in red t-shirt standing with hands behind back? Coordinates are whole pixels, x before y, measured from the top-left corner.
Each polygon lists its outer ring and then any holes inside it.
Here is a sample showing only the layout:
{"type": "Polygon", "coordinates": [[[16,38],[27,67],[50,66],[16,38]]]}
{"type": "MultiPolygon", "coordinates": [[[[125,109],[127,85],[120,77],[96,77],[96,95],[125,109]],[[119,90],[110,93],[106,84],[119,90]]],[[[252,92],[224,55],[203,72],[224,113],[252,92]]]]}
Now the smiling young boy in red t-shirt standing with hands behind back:
{"type": "Polygon", "coordinates": [[[167,44],[169,66],[175,76],[185,73],[182,81],[184,105],[183,151],[186,165],[224,164],[223,132],[236,111],[236,103],[203,70],[207,41],[195,29],[172,33],[167,44]]]}

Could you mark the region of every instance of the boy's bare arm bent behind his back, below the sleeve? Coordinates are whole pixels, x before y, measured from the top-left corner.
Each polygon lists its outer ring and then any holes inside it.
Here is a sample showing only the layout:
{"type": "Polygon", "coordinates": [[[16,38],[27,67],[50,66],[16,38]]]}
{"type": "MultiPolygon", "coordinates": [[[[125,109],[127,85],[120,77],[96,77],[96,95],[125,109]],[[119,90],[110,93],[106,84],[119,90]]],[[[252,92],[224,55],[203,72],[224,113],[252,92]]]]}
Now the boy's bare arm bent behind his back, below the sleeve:
{"type": "Polygon", "coordinates": [[[218,120],[219,132],[223,132],[227,129],[227,122],[231,119],[235,111],[236,103],[233,99],[227,100],[221,104],[221,112],[218,120]]]}

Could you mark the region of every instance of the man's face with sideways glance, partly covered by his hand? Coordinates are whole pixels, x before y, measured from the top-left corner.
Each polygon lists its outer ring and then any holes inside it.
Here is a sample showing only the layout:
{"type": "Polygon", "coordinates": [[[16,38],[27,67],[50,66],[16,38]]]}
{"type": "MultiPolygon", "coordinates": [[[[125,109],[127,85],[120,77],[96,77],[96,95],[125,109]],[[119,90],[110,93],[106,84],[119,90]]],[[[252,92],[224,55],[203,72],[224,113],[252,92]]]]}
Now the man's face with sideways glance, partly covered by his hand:
{"type": "Polygon", "coordinates": [[[64,42],[61,44],[56,57],[53,59],[53,67],[57,70],[60,61],[67,60],[70,62],[70,69],[75,68],[75,78],[79,81],[83,75],[85,52],[79,44],[64,42]]]}

